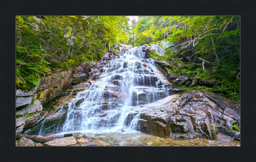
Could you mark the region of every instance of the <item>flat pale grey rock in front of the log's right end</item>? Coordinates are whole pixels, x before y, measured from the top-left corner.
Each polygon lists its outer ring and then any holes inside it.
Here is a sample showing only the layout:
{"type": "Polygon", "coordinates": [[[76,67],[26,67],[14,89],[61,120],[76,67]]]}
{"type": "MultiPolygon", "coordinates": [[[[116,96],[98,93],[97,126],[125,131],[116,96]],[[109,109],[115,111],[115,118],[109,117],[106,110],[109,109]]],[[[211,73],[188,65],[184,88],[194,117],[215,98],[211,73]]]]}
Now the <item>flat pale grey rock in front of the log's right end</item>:
{"type": "Polygon", "coordinates": [[[44,143],[44,146],[68,146],[72,144],[76,144],[76,139],[74,136],[49,141],[44,143]]]}

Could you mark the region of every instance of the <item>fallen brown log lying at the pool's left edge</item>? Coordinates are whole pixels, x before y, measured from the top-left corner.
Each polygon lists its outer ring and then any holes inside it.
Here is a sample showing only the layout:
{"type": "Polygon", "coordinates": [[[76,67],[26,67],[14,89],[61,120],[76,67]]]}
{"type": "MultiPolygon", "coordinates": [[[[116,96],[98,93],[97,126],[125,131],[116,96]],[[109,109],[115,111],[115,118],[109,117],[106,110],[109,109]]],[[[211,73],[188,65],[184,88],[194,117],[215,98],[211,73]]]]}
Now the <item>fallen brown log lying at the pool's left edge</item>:
{"type": "Polygon", "coordinates": [[[39,142],[39,143],[45,143],[48,141],[52,141],[55,140],[57,138],[61,138],[61,137],[56,137],[56,136],[41,136],[41,135],[23,135],[20,133],[16,133],[16,139],[20,139],[21,137],[25,137],[28,139],[31,139],[34,142],[39,142]]]}

